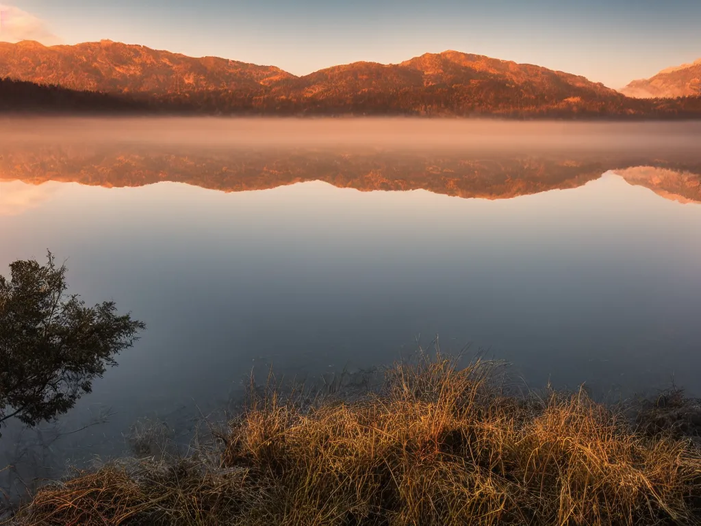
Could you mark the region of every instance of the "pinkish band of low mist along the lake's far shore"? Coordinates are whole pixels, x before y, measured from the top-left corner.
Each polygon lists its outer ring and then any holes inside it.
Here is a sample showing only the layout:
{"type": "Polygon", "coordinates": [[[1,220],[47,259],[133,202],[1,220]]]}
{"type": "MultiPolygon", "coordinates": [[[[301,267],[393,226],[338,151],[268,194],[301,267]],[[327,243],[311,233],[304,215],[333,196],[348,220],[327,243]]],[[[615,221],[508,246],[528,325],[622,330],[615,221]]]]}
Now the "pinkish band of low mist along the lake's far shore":
{"type": "Polygon", "coordinates": [[[402,150],[695,148],[697,121],[606,123],[412,118],[35,118],[0,121],[7,142],[373,147],[402,150]]]}

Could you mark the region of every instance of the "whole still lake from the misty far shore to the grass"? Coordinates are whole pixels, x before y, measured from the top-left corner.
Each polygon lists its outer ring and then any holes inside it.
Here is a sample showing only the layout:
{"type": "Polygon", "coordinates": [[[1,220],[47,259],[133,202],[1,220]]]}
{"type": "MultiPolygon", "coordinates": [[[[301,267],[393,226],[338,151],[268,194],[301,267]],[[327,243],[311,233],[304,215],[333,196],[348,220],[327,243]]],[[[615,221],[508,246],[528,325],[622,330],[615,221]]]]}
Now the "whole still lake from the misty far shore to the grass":
{"type": "Polygon", "coordinates": [[[72,292],[148,325],[68,415],[114,412],[88,445],[252,370],[436,335],[531,386],[701,396],[698,123],[241,122],[0,123],[1,272],[50,249],[72,292]]]}

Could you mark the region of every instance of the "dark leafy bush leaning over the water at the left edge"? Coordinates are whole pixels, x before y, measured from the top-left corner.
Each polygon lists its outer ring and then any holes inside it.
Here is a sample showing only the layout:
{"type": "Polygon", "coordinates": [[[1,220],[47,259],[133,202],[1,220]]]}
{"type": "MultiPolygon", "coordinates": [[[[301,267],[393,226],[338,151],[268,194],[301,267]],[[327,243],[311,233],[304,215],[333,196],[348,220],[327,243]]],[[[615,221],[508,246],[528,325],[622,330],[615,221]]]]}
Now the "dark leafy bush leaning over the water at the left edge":
{"type": "Polygon", "coordinates": [[[0,276],[0,424],[33,426],[67,412],[144,323],[118,315],[114,302],[89,307],[67,295],[66,267],[15,261],[0,276]]]}

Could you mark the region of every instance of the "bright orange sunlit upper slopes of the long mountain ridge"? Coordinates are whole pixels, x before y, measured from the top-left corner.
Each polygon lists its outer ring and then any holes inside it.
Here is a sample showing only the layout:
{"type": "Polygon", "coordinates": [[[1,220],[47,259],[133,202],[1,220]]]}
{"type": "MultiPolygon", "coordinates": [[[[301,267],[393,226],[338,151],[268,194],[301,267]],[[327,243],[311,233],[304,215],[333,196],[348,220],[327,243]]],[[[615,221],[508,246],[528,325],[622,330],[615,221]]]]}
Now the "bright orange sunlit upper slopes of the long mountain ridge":
{"type": "Polygon", "coordinates": [[[420,81],[418,83],[423,86],[464,81],[466,76],[484,79],[501,75],[510,81],[524,82],[529,80],[529,76],[548,74],[566,81],[576,81],[577,87],[596,86],[611,95],[615,93],[615,90],[606,88],[601,83],[592,83],[583,76],[456,50],[424,53],[396,64],[351,62],[296,76],[275,66],[261,66],[213,56],[194,58],[182,53],[110,40],[56,46],[43,46],[36,41],[0,43],[0,76],[36,83],[54,83],[79,90],[146,91],[158,94],[177,91],[174,83],[177,83],[178,78],[182,79],[181,90],[218,89],[222,87],[222,81],[226,82],[226,88],[234,89],[253,87],[253,83],[262,86],[284,85],[285,81],[301,81],[308,88],[319,77],[353,71],[394,73],[408,81],[409,85],[420,81]],[[426,67],[428,63],[432,66],[430,69],[426,67]],[[144,78],[149,74],[156,78],[144,78]],[[167,75],[170,77],[163,77],[167,75]],[[209,82],[203,81],[205,76],[209,76],[209,82]]]}

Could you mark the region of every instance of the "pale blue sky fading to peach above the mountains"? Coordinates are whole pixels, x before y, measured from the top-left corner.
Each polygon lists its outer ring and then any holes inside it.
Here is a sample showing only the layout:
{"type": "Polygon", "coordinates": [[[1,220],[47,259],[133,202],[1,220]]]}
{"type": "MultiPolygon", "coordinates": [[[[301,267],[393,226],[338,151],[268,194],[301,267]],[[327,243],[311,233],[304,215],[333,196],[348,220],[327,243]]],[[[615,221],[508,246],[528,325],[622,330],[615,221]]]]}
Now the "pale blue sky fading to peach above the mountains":
{"type": "Polygon", "coordinates": [[[701,0],[10,0],[0,40],[110,39],[304,75],[458,50],[611,88],[701,58],[701,0]]]}

